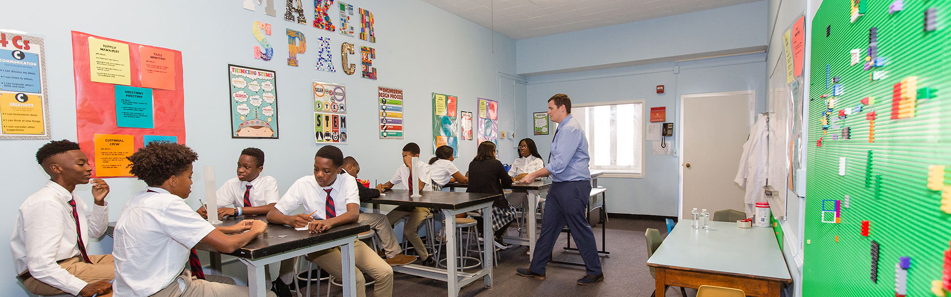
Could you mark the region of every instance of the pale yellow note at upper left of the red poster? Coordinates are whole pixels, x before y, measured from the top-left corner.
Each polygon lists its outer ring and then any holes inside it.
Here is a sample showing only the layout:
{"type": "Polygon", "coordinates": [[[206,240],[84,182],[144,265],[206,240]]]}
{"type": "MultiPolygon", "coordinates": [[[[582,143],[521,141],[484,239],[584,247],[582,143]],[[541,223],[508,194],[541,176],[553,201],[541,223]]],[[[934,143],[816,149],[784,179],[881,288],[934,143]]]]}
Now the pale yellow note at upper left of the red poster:
{"type": "Polygon", "coordinates": [[[129,86],[128,64],[127,44],[89,38],[89,80],[129,86]]]}

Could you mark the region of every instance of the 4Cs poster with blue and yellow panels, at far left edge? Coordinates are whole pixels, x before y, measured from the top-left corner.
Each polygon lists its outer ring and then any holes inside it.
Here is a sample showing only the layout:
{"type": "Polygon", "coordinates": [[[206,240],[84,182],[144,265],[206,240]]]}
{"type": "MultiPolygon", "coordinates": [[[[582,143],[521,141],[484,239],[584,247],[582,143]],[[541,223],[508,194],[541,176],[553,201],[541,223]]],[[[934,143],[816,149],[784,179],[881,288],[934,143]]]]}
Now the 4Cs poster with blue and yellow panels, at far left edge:
{"type": "Polygon", "coordinates": [[[0,139],[49,139],[43,38],[0,31],[0,139]]]}

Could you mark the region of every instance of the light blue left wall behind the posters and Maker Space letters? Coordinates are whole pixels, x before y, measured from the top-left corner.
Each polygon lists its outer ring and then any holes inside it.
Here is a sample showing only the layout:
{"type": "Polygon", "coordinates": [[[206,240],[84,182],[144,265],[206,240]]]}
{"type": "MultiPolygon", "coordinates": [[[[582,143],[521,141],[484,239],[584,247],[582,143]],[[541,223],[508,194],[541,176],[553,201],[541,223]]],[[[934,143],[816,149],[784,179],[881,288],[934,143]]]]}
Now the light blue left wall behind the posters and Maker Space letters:
{"type": "MultiPolygon", "coordinates": [[[[187,145],[200,155],[195,163],[196,181],[193,197],[187,201],[197,205],[196,197],[204,193],[204,176],[200,168],[213,165],[219,183],[234,176],[234,164],[241,148],[262,148],[267,155],[264,174],[278,179],[283,193],[303,175],[311,174],[314,152],[313,113],[310,80],[346,84],[350,104],[350,144],[339,147],[345,154],[361,162],[360,177],[379,180],[390,178],[400,164],[399,150],[409,141],[417,142],[422,154],[432,153],[431,99],[437,91],[459,97],[459,109],[476,111],[476,97],[499,99],[500,115],[513,110],[514,87],[508,81],[506,91],[498,89],[498,73],[514,74],[514,40],[493,33],[454,14],[439,10],[418,0],[347,1],[355,8],[374,13],[378,42],[371,44],[356,37],[340,35],[311,27],[313,1],[303,1],[308,25],[284,21],[284,1],[274,1],[278,17],[258,11],[243,10],[241,1],[14,1],[4,4],[0,28],[22,30],[46,38],[49,104],[53,139],[76,139],[75,91],[73,86],[70,30],[79,30],[127,42],[177,49],[183,52],[185,126],[187,145]],[[267,39],[275,47],[272,61],[255,60],[251,56],[256,44],[251,23],[265,21],[273,26],[267,39]],[[286,66],[287,43],[284,29],[301,30],[306,34],[308,49],[299,55],[301,67],[286,66]],[[317,38],[329,36],[334,63],[338,72],[314,70],[317,38]],[[492,48],[495,38],[495,49],[492,48]],[[340,43],[369,46],[377,50],[373,61],[378,80],[346,75],[340,70],[340,43]],[[493,52],[495,50],[495,52],[493,52]],[[278,72],[280,140],[231,139],[228,132],[229,106],[227,64],[238,64],[278,72]],[[376,91],[378,86],[404,90],[408,135],[406,140],[379,140],[377,136],[376,91]],[[503,95],[502,97],[499,97],[503,95]]],[[[338,23],[338,10],[331,10],[338,23]]],[[[359,30],[359,15],[356,15],[359,30]]],[[[359,52],[350,56],[359,67],[359,52]]],[[[517,86],[517,85],[516,85],[517,86]]],[[[502,130],[513,130],[514,121],[501,121],[502,130]]],[[[504,141],[503,141],[504,142],[504,141]]],[[[48,177],[33,161],[36,148],[46,141],[0,141],[5,156],[0,180],[7,186],[4,197],[7,207],[0,209],[0,238],[10,238],[16,208],[35,190],[43,187],[48,177]]],[[[460,143],[456,166],[468,168],[475,155],[475,142],[460,143]]],[[[503,150],[501,157],[514,154],[503,150]]],[[[145,187],[130,178],[108,179],[112,189],[107,201],[110,220],[118,218],[128,197],[145,187]]],[[[88,186],[77,187],[87,204],[91,195],[88,186]]],[[[111,240],[92,243],[89,251],[111,251],[111,240]]],[[[0,245],[0,292],[4,296],[25,296],[14,279],[9,245],[0,245]]]]}

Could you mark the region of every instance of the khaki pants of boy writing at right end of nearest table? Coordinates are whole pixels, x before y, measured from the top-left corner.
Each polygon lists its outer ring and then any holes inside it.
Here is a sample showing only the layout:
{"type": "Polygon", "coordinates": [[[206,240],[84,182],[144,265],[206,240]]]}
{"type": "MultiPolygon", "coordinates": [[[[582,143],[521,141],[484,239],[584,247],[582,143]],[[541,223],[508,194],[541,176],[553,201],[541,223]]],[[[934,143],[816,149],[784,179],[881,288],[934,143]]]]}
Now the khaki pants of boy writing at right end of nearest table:
{"type": "MultiPolygon", "coordinates": [[[[327,248],[304,256],[307,261],[317,264],[318,267],[323,268],[338,280],[342,279],[340,276],[343,271],[340,266],[340,257],[340,247],[327,248]]],[[[383,261],[377,252],[358,240],[354,244],[354,262],[359,268],[357,272],[357,297],[366,297],[366,279],[363,278],[363,273],[370,274],[377,281],[373,285],[373,297],[393,296],[393,267],[386,264],[386,261],[383,261]]]]}

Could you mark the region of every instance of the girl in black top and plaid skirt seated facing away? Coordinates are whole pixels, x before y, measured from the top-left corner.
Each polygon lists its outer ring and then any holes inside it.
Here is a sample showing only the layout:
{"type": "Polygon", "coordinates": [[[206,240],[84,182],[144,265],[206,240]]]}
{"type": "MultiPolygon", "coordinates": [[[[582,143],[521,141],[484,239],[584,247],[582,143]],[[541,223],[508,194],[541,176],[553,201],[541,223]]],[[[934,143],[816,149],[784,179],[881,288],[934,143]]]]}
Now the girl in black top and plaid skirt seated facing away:
{"type": "MultiPolygon", "coordinates": [[[[476,158],[469,163],[468,193],[502,194],[502,188],[512,187],[512,177],[505,171],[502,162],[495,159],[495,144],[483,141],[476,149],[476,158]]],[[[502,235],[515,220],[515,208],[509,205],[504,196],[499,196],[492,205],[492,228],[495,230],[495,247],[506,248],[502,244],[502,235]]],[[[477,228],[482,230],[482,217],[476,217],[477,228]]]]}

